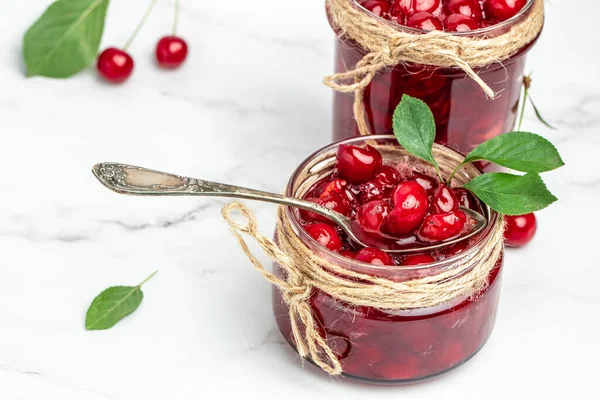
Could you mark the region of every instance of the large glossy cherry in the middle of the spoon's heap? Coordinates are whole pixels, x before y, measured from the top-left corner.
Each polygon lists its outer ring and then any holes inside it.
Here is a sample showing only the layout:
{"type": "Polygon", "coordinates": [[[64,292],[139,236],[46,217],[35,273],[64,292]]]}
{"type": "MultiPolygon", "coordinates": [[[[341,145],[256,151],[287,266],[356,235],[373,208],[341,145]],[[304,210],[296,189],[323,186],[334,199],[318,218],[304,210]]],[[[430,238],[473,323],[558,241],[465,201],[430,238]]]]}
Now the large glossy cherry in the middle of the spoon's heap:
{"type": "Polygon", "coordinates": [[[427,192],[417,182],[405,181],[394,190],[392,201],[394,210],[385,218],[381,230],[397,237],[413,234],[427,214],[427,192]]]}

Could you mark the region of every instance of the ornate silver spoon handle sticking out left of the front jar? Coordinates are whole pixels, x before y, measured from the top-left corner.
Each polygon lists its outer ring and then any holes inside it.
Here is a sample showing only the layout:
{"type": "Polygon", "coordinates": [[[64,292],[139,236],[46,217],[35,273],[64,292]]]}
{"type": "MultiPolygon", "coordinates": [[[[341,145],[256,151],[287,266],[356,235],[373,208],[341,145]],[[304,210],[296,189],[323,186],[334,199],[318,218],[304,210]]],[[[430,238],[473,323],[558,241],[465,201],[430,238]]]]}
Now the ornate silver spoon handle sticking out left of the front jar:
{"type": "Polygon", "coordinates": [[[233,197],[302,208],[314,211],[336,222],[342,217],[341,214],[336,215],[338,213],[326,207],[294,197],[188,178],[133,165],[119,163],[96,164],[92,168],[92,172],[104,186],[120,194],[134,196],[233,197]]]}

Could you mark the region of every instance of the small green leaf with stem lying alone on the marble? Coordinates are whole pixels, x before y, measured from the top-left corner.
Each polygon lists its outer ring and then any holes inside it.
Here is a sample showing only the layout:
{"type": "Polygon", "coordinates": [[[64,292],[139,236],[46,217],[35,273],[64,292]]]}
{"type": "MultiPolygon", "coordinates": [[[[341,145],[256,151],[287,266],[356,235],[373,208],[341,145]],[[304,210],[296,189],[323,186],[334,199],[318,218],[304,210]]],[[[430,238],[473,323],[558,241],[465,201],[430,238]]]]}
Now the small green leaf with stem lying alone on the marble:
{"type": "Polygon", "coordinates": [[[154,272],[137,286],[113,286],[100,293],[90,305],[85,316],[85,329],[88,331],[106,330],[133,313],[142,303],[142,285],[148,282],[154,272]]]}

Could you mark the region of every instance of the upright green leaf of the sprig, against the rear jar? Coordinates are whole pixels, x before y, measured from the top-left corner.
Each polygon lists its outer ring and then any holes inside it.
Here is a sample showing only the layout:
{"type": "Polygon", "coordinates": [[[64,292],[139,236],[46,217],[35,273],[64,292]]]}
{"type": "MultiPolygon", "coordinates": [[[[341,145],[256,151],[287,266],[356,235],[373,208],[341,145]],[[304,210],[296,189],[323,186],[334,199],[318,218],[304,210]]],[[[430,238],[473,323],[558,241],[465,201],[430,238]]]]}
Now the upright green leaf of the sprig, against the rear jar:
{"type": "Polygon", "coordinates": [[[435,120],[427,104],[403,95],[394,111],[393,127],[394,135],[402,147],[439,169],[433,158],[435,120]]]}

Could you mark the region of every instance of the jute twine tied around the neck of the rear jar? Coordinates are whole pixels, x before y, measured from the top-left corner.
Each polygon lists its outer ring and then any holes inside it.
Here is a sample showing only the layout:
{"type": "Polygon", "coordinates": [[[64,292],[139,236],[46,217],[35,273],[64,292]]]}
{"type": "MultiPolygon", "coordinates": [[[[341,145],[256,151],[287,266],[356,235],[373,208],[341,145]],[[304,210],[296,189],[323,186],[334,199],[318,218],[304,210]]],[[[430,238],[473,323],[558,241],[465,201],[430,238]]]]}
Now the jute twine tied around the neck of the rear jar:
{"type": "Polygon", "coordinates": [[[496,93],[474,69],[501,63],[538,36],[544,25],[544,1],[534,1],[529,14],[506,33],[467,37],[443,31],[403,32],[356,8],[352,0],[327,0],[332,24],[340,38],[355,41],[367,54],[353,69],[327,76],[323,82],[338,92],[354,93],[354,118],[362,135],[370,133],[363,106],[365,88],[378,71],[398,64],[459,68],[477,82],[487,96],[494,98],[496,93]]]}

